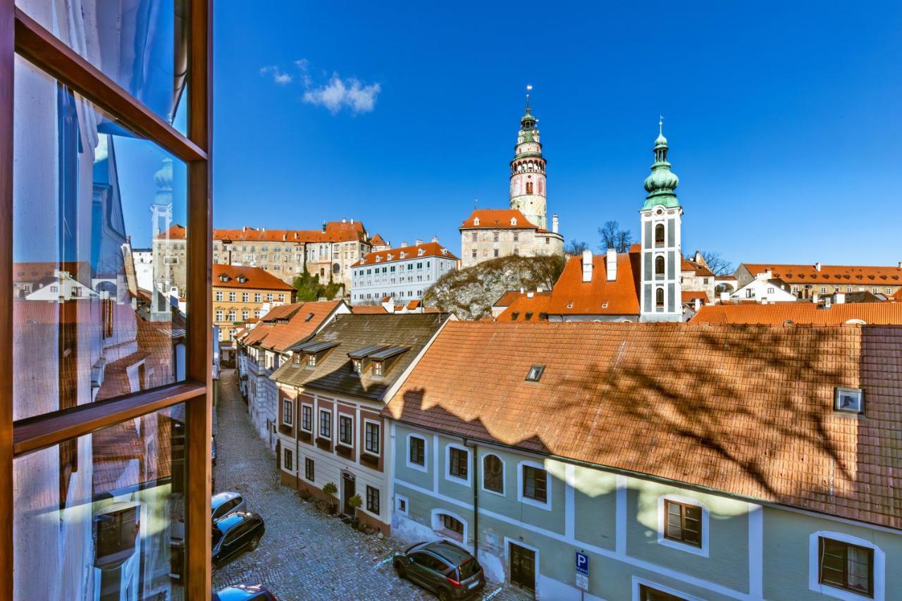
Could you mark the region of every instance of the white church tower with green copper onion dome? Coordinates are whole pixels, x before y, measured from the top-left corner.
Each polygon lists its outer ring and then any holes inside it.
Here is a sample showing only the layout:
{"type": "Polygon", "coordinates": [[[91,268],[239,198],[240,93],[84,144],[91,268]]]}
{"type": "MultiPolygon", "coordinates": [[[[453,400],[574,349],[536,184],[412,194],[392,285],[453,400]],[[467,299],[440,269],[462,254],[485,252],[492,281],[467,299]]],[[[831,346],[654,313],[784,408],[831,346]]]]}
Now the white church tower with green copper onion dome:
{"type": "Polygon", "coordinates": [[[658,118],[655,162],[645,179],[648,195],[640,208],[641,220],[641,302],[642,321],[682,321],[683,291],[680,271],[683,252],[680,246],[683,208],[676,199],[679,178],[667,162],[667,138],[664,117],[658,118]]]}

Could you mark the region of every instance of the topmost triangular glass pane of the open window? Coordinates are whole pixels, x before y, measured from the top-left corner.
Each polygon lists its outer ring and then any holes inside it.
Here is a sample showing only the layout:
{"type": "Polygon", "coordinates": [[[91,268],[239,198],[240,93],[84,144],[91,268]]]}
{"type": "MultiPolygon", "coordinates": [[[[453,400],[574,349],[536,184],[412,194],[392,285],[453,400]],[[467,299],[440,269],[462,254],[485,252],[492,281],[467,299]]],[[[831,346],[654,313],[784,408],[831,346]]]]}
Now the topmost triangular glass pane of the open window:
{"type": "Polygon", "coordinates": [[[15,0],[15,5],[186,132],[188,0],[15,0]]]}

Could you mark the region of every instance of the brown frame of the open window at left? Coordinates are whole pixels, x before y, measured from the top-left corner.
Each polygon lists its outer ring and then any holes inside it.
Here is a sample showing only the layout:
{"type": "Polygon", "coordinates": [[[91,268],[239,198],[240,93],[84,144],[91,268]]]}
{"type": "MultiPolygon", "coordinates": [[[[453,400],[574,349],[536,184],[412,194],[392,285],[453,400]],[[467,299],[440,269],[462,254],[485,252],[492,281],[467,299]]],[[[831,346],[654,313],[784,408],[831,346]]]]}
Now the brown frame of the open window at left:
{"type": "Polygon", "coordinates": [[[188,163],[187,380],[119,399],[13,422],[13,303],[0,303],[0,598],[13,598],[14,457],[52,447],[111,424],[185,403],[187,495],[185,596],[210,598],[212,468],[212,0],[189,3],[188,134],[41,27],[0,0],[0,290],[13,290],[14,57],[65,83],[126,128],[188,163]]]}

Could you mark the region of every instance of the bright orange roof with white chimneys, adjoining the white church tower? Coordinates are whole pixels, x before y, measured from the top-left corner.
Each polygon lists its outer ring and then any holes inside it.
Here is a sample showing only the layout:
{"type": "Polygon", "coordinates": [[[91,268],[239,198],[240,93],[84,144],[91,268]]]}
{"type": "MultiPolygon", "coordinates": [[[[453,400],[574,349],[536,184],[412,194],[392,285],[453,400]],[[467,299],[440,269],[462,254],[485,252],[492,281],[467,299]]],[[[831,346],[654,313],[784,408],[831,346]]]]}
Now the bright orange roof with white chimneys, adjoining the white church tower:
{"type": "Polygon", "coordinates": [[[607,256],[594,255],[592,282],[583,282],[583,257],[570,257],[551,291],[552,315],[639,315],[640,253],[617,255],[617,278],[607,281],[607,256]]]}

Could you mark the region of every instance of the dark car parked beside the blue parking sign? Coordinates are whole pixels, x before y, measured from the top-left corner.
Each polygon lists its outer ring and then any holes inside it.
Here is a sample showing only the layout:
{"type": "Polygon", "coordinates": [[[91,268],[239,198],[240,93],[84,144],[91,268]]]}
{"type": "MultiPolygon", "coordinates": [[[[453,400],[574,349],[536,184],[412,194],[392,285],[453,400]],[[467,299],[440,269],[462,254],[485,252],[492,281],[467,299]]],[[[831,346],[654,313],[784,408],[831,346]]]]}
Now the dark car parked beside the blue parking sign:
{"type": "Polygon", "coordinates": [[[439,599],[465,599],[485,587],[483,567],[450,541],[418,542],[394,558],[400,578],[427,587],[439,599]]]}

